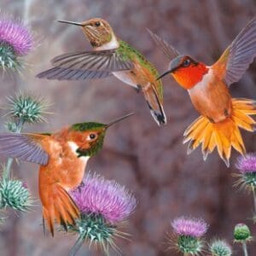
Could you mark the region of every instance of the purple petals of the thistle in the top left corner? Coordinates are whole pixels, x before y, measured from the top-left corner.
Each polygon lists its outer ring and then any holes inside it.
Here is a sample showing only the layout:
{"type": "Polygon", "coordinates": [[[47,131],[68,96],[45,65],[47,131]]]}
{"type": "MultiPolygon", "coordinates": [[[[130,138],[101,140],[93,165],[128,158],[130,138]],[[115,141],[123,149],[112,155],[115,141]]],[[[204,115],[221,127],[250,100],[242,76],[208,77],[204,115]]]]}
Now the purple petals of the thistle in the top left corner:
{"type": "Polygon", "coordinates": [[[16,55],[26,55],[32,49],[32,33],[22,23],[3,18],[0,20],[0,43],[11,46],[16,55]]]}

